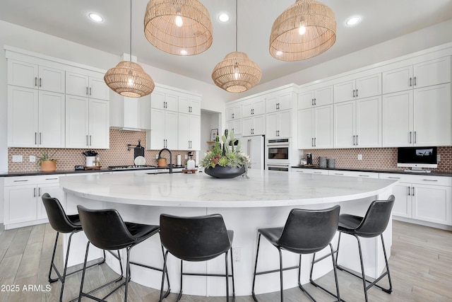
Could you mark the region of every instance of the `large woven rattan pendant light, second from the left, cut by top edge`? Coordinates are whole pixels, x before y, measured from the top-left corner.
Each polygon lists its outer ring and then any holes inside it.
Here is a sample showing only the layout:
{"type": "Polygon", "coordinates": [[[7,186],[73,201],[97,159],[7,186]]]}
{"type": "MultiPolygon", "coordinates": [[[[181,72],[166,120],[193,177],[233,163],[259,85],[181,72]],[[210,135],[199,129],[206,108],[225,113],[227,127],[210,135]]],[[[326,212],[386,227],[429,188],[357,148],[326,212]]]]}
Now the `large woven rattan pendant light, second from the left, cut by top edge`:
{"type": "Polygon", "coordinates": [[[144,35],[159,50],[190,56],[212,45],[213,26],[207,8],[198,0],[150,0],[144,35]]]}

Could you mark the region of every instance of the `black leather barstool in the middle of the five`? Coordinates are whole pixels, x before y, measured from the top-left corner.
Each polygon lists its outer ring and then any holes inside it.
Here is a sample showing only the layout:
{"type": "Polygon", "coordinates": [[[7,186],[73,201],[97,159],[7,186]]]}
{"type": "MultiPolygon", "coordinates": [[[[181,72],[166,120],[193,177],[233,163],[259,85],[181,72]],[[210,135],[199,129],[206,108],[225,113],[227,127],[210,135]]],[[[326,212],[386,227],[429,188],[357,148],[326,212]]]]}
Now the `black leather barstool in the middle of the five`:
{"type": "MultiPolygon", "coordinates": [[[[168,252],[181,260],[181,289],[177,301],[182,297],[183,276],[209,276],[226,278],[226,301],[229,301],[229,278],[232,278],[232,299],[235,301],[234,266],[232,265],[232,240],[234,231],[227,230],[220,214],[206,216],[181,217],[168,214],[160,215],[160,240],[166,252],[164,256],[164,274],[162,291],[167,274],[168,252]],[[227,254],[230,253],[231,270],[227,254]],[[196,274],[184,272],[184,261],[207,261],[225,254],[225,274],[196,274]]],[[[162,291],[160,301],[162,301],[162,291]]]]}

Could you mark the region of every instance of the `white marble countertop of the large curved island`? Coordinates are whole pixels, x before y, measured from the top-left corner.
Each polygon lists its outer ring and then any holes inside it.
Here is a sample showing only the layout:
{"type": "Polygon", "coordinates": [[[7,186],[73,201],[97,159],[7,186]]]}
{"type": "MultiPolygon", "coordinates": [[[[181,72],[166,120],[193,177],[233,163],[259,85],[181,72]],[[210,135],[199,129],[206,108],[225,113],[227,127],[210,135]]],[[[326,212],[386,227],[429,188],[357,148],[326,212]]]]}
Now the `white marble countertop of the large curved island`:
{"type": "Polygon", "coordinates": [[[118,173],[59,178],[64,192],[103,202],[163,207],[282,207],[377,195],[396,181],[249,170],[249,178],[205,173],[118,173]]]}

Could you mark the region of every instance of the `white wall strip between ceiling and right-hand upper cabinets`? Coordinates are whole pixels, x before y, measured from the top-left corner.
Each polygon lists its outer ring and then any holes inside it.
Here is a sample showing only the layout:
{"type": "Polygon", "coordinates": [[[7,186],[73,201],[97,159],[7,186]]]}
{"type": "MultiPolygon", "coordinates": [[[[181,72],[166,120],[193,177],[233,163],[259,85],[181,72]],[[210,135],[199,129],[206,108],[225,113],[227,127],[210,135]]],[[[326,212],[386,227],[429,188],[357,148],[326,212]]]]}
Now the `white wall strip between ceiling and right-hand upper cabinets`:
{"type": "MultiPolygon", "coordinates": [[[[268,91],[273,88],[287,85],[289,83],[296,83],[302,85],[312,81],[335,76],[347,71],[359,69],[372,64],[386,61],[388,59],[395,59],[405,54],[426,50],[427,48],[443,45],[452,42],[452,20],[445,21],[429,28],[417,30],[408,35],[397,37],[393,40],[388,40],[380,44],[352,52],[338,59],[325,62],[310,68],[298,71],[295,74],[283,76],[273,81],[260,84],[251,91],[246,91],[237,95],[238,98],[244,98],[248,95],[253,95],[263,91],[268,91]]],[[[340,37],[338,37],[339,39],[340,37]]]]}

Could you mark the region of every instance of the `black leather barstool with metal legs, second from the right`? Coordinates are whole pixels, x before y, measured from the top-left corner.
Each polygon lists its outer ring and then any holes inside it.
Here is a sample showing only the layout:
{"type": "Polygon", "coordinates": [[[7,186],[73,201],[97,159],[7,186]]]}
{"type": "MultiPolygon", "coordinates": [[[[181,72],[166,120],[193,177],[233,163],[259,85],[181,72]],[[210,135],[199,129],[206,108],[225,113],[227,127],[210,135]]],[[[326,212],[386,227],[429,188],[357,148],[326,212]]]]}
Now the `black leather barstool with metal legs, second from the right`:
{"type": "Polygon", "coordinates": [[[337,301],[340,301],[339,286],[338,286],[338,276],[336,274],[336,263],[333,256],[333,245],[331,245],[331,240],[333,239],[336,231],[338,230],[338,220],[339,220],[340,206],[336,205],[329,209],[321,210],[311,210],[311,209],[292,209],[284,227],[277,228],[260,228],[258,229],[258,242],[256,251],[256,265],[254,266],[254,277],[253,277],[253,290],[252,295],[254,301],[257,301],[256,294],[254,292],[254,285],[256,284],[256,276],[261,274],[270,274],[279,272],[280,273],[280,297],[281,302],[284,301],[283,294],[283,271],[289,269],[298,269],[298,286],[304,294],[306,294],[312,301],[314,298],[309,294],[306,289],[301,284],[301,264],[303,254],[314,253],[314,259],[311,263],[311,272],[309,275],[309,280],[315,286],[323,289],[328,294],[331,294],[337,301]],[[275,248],[278,248],[280,254],[280,268],[273,269],[265,272],[257,272],[257,262],[259,255],[259,247],[261,244],[261,236],[266,238],[275,248]],[[315,284],[312,280],[312,271],[314,269],[314,262],[319,262],[320,260],[315,260],[315,253],[323,250],[326,246],[330,246],[331,250],[331,260],[333,261],[333,271],[335,278],[336,294],[331,293],[324,289],[323,287],[315,284]],[[299,263],[293,267],[283,267],[283,253],[282,250],[287,250],[289,252],[295,252],[299,254],[299,263]]]}

